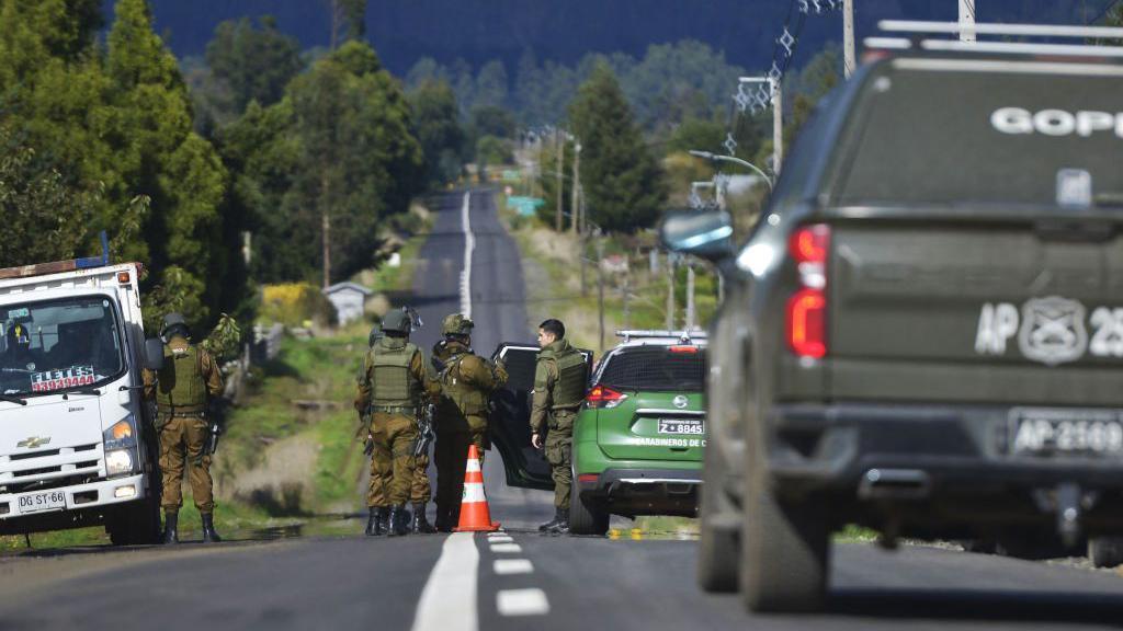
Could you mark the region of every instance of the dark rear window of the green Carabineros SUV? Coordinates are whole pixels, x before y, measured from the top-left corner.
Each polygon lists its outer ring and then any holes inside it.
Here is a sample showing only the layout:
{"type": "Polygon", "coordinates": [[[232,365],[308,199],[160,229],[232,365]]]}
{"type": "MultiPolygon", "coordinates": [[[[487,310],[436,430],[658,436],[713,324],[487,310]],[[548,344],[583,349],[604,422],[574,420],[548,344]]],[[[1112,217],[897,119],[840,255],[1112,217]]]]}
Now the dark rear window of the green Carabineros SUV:
{"type": "Polygon", "coordinates": [[[702,392],[705,374],[703,348],[682,353],[664,346],[645,346],[613,353],[601,371],[599,383],[615,390],[702,392]]]}

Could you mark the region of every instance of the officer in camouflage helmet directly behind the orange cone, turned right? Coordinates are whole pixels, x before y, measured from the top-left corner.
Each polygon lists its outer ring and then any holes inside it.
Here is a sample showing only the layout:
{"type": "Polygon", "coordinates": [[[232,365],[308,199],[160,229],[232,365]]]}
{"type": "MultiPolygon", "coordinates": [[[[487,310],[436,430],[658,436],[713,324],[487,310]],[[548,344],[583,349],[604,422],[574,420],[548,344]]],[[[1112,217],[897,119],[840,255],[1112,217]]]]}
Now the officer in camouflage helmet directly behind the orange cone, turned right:
{"type": "Polygon", "coordinates": [[[437,530],[442,532],[451,531],[459,520],[468,446],[476,446],[481,459],[487,447],[489,395],[506,383],[502,364],[492,365],[472,351],[473,327],[472,320],[459,313],[447,316],[441,322],[445,338],[432,349],[440,382],[435,456],[437,530]]]}

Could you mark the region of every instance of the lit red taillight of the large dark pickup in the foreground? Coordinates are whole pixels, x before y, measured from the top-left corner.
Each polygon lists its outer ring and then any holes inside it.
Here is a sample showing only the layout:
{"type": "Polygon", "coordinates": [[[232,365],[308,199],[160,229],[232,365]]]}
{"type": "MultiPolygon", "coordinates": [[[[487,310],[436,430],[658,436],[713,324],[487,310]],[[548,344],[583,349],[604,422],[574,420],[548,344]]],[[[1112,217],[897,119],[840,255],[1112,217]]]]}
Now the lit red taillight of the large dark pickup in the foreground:
{"type": "Polygon", "coordinates": [[[792,234],[788,249],[800,272],[800,290],[787,301],[787,345],[800,357],[827,355],[827,258],[831,228],[804,226],[792,234]]]}

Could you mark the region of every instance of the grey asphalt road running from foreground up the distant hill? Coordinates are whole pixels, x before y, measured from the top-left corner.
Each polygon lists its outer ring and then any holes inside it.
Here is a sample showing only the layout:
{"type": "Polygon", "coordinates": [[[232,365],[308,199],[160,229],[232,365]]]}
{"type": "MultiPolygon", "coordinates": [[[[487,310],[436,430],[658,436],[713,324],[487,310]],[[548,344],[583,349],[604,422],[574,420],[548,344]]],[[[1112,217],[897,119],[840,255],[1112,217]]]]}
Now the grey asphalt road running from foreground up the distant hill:
{"type": "MultiPolygon", "coordinates": [[[[463,194],[444,198],[421,256],[431,346],[460,305],[463,194]],[[447,262],[447,263],[446,263],[447,262]]],[[[529,339],[518,254],[491,198],[471,195],[476,348],[529,339]]],[[[690,540],[542,537],[550,494],[502,485],[487,460],[492,536],[304,537],[176,548],[35,550],[0,558],[0,629],[1107,629],[1123,577],[959,551],[837,546],[829,610],[750,616],[694,586],[690,540]]]]}

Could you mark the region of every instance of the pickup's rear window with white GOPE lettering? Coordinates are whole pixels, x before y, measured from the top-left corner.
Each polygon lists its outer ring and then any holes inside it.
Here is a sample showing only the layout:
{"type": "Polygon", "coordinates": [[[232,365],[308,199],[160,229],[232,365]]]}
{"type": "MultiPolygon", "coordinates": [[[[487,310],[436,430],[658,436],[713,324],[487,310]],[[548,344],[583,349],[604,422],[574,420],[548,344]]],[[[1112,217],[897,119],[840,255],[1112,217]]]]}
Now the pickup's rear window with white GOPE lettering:
{"type": "Polygon", "coordinates": [[[1117,65],[896,60],[859,99],[839,199],[1051,205],[1060,172],[1077,170],[1094,199],[1114,200],[1121,102],[1117,65]]]}

